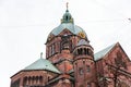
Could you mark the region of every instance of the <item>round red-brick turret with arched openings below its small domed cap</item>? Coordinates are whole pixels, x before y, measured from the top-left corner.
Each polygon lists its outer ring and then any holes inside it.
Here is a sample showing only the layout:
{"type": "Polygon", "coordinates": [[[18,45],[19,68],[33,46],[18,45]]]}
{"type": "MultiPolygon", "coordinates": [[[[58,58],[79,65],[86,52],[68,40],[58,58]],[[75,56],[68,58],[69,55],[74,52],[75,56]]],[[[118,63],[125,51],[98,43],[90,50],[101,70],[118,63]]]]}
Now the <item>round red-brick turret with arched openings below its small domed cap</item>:
{"type": "Polygon", "coordinates": [[[94,52],[90,42],[81,39],[73,54],[75,87],[96,87],[94,52]]]}

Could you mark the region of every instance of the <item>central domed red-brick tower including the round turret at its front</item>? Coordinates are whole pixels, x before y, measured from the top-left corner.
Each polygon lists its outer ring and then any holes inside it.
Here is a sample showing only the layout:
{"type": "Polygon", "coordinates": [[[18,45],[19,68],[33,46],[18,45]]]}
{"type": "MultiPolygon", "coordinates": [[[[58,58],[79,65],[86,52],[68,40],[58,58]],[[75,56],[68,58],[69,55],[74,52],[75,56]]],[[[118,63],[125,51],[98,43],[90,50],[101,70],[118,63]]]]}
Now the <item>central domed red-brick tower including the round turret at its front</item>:
{"type": "MultiPolygon", "coordinates": [[[[46,59],[61,72],[64,79],[74,77],[75,87],[96,87],[94,49],[86,33],[66,10],[61,24],[51,30],[46,42],[46,59]],[[70,72],[73,71],[73,75],[70,72]],[[91,79],[92,78],[92,79],[91,79]]],[[[69,86],[72,87],[72,86],[69,86]]]]}

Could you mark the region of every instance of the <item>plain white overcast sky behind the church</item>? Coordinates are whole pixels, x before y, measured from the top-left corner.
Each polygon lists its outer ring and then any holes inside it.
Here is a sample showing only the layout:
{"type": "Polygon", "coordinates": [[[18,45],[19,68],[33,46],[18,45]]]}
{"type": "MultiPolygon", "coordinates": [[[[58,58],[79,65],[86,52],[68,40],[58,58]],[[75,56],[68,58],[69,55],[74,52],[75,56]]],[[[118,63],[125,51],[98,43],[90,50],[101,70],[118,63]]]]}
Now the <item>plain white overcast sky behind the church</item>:
{"type": "Polygon", "coordinates": [[[0,85],[39,59],[48,34],[60,24],[69,2],[75,25],[88,36],[94,51],[117,41],[131,57],[131,0],[0,0],[0,85]]]}

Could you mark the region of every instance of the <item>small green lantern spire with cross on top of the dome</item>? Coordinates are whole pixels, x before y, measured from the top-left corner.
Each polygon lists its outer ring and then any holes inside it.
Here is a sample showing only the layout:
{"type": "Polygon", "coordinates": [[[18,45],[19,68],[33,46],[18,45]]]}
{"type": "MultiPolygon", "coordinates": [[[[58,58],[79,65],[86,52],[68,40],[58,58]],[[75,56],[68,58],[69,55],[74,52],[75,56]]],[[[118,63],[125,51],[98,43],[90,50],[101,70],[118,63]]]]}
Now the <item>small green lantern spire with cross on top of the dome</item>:
{"type": "Polygon", "coordinates": [[[69,3],[67,2],[67,10],[66,13],[62,16],[61,23],[73,23],[73,18],[71,14],[69,13],[69,3]]]}

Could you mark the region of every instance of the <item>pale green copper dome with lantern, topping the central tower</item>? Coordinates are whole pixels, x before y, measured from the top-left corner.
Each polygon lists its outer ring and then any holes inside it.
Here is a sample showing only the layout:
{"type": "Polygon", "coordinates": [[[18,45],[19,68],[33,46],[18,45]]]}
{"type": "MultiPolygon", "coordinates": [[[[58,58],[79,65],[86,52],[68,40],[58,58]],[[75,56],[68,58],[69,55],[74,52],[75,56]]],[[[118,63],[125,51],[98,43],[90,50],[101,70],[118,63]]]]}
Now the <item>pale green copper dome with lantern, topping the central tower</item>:
{"type": "Polygon", "coordinates": [[[61,18],[61,24],[51,30],[51,33],[48,36],[48,39],[52,36],[59,36],[59,34],[62,33],[64,29],[68,29],[73,35],[78,35],[82,38],[87,38],[86,33],[83,30],[83,28],[74,25],[73,17],[69,13],[69,10],[67,10],[63,14],[61,18]]]}

